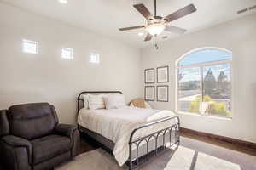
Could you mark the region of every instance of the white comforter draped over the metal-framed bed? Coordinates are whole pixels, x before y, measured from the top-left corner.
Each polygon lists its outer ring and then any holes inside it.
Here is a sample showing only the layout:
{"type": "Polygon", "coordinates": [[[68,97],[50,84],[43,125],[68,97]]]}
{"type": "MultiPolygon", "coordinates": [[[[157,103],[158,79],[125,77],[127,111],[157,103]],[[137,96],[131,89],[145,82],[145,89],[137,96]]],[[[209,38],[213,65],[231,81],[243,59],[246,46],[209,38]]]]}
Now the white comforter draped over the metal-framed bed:
{"type": "MultiPolygon", "coordinates": [[[[175,116],[172,111],[159,111],[153,109],[140,109],[125,107],[111,110],[86,110],[79,111],[78,123],[80,126],[99,133],[113,141],[113,155],[122,166],[129,157],[129,138],[132,130],[138,125],[152,122],[166,116],[175,116]]],[[[146,136],[161,128],[172,126],[177,119],[162,122],[153,127],[143,128],[135,133],[135,138],[146,136]]]]}

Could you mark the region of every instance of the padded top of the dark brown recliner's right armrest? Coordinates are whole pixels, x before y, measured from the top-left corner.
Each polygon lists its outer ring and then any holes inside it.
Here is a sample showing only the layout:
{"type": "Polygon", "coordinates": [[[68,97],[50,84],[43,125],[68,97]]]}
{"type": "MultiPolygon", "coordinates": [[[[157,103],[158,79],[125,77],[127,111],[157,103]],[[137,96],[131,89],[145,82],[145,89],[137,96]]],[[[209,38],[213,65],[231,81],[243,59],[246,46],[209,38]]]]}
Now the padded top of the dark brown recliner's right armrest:
{"type": "Polygon", "coordinates": [[[55,127],[55,133],[62,135],[62,136],[67,136],[70,137],[73,135],[73,132],[77,130],[77,126],[75,125],[68,125],[68,124],[58,124],[55,127]]]}

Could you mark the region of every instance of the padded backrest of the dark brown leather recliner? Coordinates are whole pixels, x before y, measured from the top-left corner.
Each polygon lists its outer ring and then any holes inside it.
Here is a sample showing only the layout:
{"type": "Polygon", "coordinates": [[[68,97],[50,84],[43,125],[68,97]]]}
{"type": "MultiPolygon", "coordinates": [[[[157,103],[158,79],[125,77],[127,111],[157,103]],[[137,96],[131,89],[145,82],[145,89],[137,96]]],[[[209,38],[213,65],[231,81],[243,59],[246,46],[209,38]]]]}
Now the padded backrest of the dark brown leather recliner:
{"type": "Polygon", "coordinates": [[[58,124],[55,108],[48,103],[13,105],[8,112],[9,133],[28,140],[52,133],[58,124]]]}

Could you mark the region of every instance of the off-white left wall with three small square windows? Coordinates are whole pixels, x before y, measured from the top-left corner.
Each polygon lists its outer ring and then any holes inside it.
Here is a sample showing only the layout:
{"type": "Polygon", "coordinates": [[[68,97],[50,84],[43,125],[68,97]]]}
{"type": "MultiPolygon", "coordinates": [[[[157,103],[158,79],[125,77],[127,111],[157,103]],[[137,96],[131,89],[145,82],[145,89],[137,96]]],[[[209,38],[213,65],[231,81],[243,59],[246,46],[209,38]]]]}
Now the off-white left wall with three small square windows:
{"type": "Polygon", "coordinates": [[[140,51],[108,37],[0,3],[0,108],[47,101],[60,122],[74,122],[84,90],[122,90],[126,101],[142,96],[140,51]],[[39,54],[23,54],[22,39],[39,42],[39,54]],[[74,59],[61,59],[61,48],[74,59]],[[89,54],[100,54],[100,65],[89,54]]]}

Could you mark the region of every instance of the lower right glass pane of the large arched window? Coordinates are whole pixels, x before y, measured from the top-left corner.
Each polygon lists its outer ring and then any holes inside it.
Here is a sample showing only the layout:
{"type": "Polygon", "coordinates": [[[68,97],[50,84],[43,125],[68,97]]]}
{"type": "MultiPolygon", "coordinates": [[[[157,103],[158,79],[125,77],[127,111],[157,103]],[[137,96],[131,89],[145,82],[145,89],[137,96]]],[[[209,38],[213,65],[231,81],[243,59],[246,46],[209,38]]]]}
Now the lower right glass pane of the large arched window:
{"type": "Polygon", "coordinates": [[[207,115],[231,116],[230,64],[203,68],[202,112],[207,115]]]}

